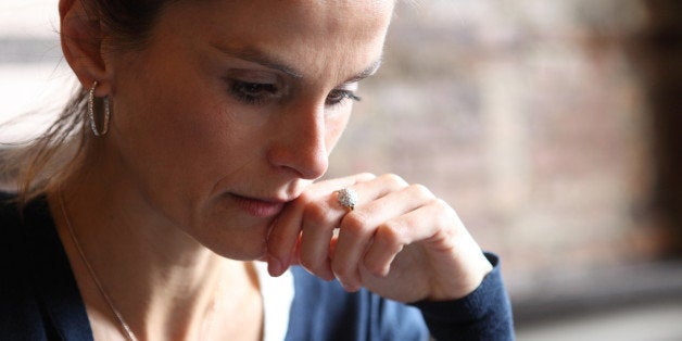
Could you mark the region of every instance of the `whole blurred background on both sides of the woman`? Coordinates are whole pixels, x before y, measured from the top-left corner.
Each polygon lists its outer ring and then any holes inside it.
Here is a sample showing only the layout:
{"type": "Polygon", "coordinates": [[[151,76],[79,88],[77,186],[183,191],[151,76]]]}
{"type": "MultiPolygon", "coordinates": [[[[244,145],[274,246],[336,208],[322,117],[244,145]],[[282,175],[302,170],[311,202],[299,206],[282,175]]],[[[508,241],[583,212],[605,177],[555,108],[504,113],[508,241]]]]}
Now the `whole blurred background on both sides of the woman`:
{"type": "MultiPolygon", "coordinates": [[[[0,140],[75,84],[56,0],[0,0],[0,140]]],[[[402,2],[329,176],[396,173],[498,253],[519,340],[682,339],[682,2],[402,2]]]]}

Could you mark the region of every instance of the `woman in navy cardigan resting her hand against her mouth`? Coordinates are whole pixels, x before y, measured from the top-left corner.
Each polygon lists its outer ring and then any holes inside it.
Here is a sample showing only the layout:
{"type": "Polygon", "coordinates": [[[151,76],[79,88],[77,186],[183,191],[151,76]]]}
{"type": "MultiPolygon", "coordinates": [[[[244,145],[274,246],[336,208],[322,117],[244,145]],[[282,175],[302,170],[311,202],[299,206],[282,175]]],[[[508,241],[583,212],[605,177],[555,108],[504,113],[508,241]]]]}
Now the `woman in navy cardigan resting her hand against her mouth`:
{"type": "Polygon", "coordinates": [[[513,338],[495,256],[442,200],[316,181],[392,0],[59,5],[84,90],[2,209],[3,337],[513,338]]]}

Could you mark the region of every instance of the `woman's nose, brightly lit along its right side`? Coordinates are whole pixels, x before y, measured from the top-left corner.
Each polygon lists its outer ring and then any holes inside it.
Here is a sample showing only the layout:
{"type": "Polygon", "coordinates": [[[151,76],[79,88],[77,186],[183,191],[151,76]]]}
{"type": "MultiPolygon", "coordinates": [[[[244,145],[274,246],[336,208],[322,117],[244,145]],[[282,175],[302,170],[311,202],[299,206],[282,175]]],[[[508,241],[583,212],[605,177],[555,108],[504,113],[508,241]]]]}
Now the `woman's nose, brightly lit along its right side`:
{"type": "Polygon", "coordinates": [[[277,119],[268,160],[276,167],[314,180],[329,165],[324,104],[292,105],[277,119]]]}

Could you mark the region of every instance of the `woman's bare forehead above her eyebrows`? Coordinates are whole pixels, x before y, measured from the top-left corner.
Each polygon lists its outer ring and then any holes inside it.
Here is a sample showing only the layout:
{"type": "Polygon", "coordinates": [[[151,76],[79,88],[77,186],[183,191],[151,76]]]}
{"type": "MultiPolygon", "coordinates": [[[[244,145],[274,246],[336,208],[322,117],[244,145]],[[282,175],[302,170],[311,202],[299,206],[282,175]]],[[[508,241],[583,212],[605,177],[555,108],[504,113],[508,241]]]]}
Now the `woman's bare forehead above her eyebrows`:
{"type": "Polygon", "coordinates": [[[392,11],[393,0],[178,1],[161,16],[156,38],[256,48],[291,61],[317,56],[325,63],[344,54],[371,60],[380,54],[392,11]]]}

